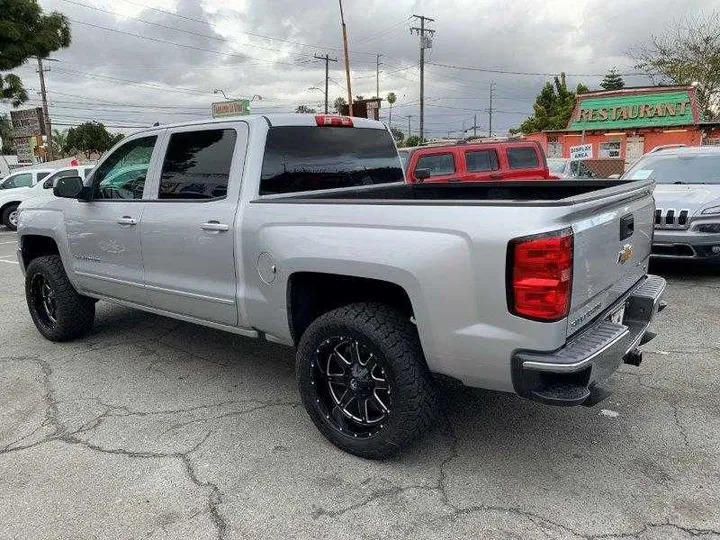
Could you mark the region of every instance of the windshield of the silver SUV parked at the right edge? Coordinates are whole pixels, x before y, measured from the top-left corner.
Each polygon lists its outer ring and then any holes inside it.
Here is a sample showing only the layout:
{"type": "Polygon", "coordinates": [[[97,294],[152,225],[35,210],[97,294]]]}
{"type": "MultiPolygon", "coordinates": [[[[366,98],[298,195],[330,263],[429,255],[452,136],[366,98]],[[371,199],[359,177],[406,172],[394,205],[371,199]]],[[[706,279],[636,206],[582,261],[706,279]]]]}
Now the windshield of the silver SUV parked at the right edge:
{"type": "Polygon", "coordinates": [[[638,161],[623,178],[627,180],[650,178],[657,184],[720,184],[720,152],[651,154],[638,161]]]}

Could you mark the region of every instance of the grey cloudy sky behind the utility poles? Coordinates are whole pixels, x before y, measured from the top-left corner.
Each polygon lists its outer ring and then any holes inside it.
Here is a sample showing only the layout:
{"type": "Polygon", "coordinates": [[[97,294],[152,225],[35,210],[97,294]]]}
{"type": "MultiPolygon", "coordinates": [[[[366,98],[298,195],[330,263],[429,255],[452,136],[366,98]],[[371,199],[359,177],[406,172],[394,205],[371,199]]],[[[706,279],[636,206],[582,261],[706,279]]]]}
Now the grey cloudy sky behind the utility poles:
{"type": "MultiPolygon", "coordinates": [[[[335,0],[41,0],[72,24],[73,43],[48,62],[51,117],[58,128],[87,120],[130,132],[154,122],[201,119],[219,99],[262,96],[254,112],[318,110],[329,54],[330,101],[346,96],[335,0]]],[[[631,73],[629,50],[674,17],[720,9],[720,0],[344,0],[353,95],[395,92],[392,124],[418,128],[418,37],[411,15],[435,19],[427,51],[426,131],[454,135],[488,128],[506,132],[532,112],[548,75],[565,71],[572,86],[596,88],[608,68],[631,73]],[[455,66],[455,67],[447,67],[455,66]],[[477,68],[476,70],[458,67],[477,68]],[[482,70],[496,70],[493,73],[482,70]]],[[[34,65],[15,70],[39,104],[34,65]]],[[[641,76],[626,84],[642,85],[641,76]]],[[[0,106],[1,107],[1,106],[0,106]]],[[[7,107],[4,107],[7,110],[7,107]]],[[[387,119],[387,108],[382,117],[387,119]]]]}

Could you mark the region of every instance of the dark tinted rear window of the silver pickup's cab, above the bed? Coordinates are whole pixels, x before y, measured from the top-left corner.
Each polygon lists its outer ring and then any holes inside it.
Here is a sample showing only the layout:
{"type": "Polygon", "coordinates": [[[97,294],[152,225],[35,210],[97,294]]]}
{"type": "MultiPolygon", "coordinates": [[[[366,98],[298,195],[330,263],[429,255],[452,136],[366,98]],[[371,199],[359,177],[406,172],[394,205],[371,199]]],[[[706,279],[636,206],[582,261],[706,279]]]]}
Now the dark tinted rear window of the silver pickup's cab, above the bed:
{"type": "Polygon", "coordinates": [[[347,127],[270,128],[260,195],[404,181],[392,136],[347,127]]]}

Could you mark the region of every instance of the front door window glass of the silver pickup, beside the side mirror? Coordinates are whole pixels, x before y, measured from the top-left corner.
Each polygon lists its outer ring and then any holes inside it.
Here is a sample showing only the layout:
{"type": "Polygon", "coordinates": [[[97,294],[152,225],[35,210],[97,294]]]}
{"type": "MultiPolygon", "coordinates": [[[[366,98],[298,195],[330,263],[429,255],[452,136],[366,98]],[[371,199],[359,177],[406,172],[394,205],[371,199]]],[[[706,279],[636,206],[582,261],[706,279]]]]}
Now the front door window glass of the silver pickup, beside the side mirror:
{"type": "Polygon", "coordinates": [[[142,199],[156,136],[123,144],[103,161],[93,175],[95,199],[142,199]]]}

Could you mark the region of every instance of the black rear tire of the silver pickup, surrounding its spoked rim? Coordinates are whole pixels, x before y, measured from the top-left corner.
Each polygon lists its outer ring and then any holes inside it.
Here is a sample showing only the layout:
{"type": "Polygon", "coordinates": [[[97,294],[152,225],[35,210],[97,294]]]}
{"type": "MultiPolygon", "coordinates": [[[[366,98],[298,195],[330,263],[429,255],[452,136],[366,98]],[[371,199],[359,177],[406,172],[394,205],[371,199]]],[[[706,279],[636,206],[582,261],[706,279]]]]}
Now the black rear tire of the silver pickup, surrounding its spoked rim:
{"type": "Polygon", "coordinates": [[[435,386],[417,329],[407,316],[384,304],[350,304],[316,319],[300,339],[296,375],[303,404],[317,428],[335,446],[356,456],[383,459],[395,454],[423,435],[434,420],[435,386]],[[312,366],[322,344],[334,336],[359,340],[382,357],[392,406],[382,428],[366,438],[339,430],[318,401],[312,366]]]}

